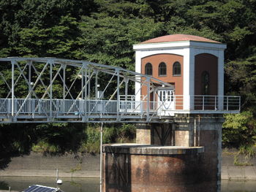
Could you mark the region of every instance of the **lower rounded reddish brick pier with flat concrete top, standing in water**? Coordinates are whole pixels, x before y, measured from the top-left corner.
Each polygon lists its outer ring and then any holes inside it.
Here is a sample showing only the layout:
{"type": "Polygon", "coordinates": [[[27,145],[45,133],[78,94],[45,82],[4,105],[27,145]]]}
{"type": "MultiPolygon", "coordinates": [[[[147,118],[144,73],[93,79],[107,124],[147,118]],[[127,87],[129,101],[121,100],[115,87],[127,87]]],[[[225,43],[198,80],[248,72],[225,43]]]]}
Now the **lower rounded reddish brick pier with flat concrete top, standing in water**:
{"type": "Polygon", "coordinates": [[[105,145],[103,191],[195,191],[203,147],[105,145]]]}

